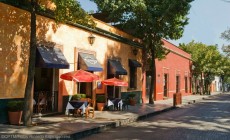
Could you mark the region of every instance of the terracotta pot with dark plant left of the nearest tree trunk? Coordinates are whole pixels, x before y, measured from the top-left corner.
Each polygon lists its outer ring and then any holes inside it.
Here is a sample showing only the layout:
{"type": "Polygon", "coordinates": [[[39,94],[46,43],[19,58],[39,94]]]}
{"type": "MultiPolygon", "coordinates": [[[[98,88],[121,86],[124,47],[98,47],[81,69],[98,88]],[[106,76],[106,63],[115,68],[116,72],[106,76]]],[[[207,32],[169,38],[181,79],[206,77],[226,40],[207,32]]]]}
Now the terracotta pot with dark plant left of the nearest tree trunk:
{"type": "Polygon", "coordinates": [[[19,100],[13,100],[7,103],[10,124],[19,125],[21,123],[23,105],[24,102],[19,100]]]}

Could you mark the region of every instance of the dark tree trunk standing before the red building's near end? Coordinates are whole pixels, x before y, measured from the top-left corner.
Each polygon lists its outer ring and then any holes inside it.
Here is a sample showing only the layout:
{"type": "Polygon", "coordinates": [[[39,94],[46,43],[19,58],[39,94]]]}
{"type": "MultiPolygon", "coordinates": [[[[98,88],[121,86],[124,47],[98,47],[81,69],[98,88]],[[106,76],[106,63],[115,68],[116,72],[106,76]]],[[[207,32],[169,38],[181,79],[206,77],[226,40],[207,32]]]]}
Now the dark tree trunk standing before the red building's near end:
{"type": "Polygon", "coordinates": [[[156,63],[154,49],[151,50],[151,86],[149,93],[149,104],[154,104],[154,94],[156,93],[156,63]]]}

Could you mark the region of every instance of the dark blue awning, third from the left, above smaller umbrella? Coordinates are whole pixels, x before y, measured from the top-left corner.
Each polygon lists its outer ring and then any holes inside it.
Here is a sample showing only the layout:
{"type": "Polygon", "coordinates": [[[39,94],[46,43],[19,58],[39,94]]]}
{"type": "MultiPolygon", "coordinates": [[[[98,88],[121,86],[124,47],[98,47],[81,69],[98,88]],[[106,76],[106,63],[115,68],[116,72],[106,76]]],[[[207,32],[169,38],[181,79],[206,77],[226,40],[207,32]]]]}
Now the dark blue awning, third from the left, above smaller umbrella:
{"type": "Polygon", "coordinates": [[[119,60],[108,60],[109,61],[109,74],[116,75],[127,75],[127,71],[122,67],[119,60]]]}

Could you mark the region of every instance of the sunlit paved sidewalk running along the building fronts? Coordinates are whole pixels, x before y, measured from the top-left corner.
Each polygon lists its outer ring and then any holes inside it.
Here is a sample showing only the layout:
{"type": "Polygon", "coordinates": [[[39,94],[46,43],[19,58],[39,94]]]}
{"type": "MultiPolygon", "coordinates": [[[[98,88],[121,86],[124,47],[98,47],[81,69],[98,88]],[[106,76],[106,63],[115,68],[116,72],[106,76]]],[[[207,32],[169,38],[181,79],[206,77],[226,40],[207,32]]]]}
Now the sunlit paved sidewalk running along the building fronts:
{"type": "MultiPolygon", "coordinates": [[[[212,93],[211,96],[218,94],[220,93],[212,93]]],[[[182,106],[211,96],[184,96],[182,106]]],[[[155,101],[153,105],[129,106],[129,109],[125,111],[96,111],[93,119],[66,115],[34,118],[33,121],[38,125],[31,127],[0,124],[0,139],[79,139],[171,109],[174,109],[173,99],[167,99],[155,101]]]]}

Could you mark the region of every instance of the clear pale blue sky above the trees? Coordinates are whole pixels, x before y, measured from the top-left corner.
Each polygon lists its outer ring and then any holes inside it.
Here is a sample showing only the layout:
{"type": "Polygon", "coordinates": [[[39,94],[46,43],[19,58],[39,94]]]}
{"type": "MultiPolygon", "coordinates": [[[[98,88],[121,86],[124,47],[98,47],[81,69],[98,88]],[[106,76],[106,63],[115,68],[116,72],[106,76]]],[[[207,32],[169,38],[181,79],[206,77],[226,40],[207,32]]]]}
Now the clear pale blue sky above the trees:
{"type": "MultiPolygon", "coordinates": [[[[89,0],[78,0],[86,11],[97,10],[96,4],[89,0]]],[[[220,38],[221,33],[230,28],[230,2],[224,0],[194,0],[189,11],[189,24],[179,40],[170,40],[175,45],[192,40],[206,45],[230,44],[220,38]]]]}

